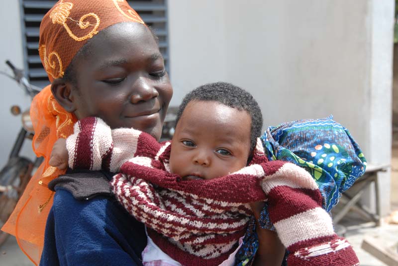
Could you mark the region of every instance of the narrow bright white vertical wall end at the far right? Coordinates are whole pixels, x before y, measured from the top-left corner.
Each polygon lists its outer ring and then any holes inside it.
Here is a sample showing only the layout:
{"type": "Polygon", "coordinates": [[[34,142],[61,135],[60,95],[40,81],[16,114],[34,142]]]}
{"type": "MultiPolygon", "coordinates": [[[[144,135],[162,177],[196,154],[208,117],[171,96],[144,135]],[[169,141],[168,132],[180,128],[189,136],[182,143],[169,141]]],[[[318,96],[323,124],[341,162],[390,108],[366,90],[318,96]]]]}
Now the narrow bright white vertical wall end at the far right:
{"type": "MultiPolygon", "coordinates": [[[[370,87],[365,91],[368,161],[391,163],[394,1],[371,1],[370,87]]],[[[391,171],[379,175],[381,211],[390,210],[391,171]]],[[[372,195],[371,195],[372,196],[372,195]]]]}

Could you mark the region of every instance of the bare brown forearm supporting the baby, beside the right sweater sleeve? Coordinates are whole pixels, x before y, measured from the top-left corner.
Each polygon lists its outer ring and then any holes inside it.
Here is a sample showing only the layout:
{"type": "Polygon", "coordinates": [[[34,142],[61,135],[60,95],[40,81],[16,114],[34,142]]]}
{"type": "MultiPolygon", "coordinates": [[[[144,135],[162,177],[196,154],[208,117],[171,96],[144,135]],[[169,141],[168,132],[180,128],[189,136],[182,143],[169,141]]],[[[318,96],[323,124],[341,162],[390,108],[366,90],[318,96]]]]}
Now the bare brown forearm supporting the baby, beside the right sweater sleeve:
{"type": "Polygon", "coordinates": [[[259,247],[254,257],[253,266],[281,266],[285,256],[285,247],[278,238],[277,232],[262,229],[258,224],[258,219],[264,206],[264,201],[250,203],[256,218],[256,231],[259,240],[259,247]]]}

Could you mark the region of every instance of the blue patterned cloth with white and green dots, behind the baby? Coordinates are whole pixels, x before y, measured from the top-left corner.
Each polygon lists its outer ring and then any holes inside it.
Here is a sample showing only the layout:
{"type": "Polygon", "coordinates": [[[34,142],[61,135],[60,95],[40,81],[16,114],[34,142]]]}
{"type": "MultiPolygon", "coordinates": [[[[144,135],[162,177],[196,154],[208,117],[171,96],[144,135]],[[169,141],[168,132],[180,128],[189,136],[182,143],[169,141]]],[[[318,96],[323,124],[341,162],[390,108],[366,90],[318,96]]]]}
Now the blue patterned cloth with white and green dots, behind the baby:
{"type": "MultiPolygon", "coordinates": [[[[365,172],[366,159],[360,147],[346,128],[333,121],[332,116],[269,127],[261,140],[269,160],[288,161],[311,174],[322,195],[322,207],[327,212],[337,204],[341,193],[365,172]]],[[[264,229],[275,230],[267,205],[261,212],[259,224],[264,229]]],[[[256,223],[252,217],[242,247],[235,256],[236,265],[251,265],[257,249],[256,223]]]]}

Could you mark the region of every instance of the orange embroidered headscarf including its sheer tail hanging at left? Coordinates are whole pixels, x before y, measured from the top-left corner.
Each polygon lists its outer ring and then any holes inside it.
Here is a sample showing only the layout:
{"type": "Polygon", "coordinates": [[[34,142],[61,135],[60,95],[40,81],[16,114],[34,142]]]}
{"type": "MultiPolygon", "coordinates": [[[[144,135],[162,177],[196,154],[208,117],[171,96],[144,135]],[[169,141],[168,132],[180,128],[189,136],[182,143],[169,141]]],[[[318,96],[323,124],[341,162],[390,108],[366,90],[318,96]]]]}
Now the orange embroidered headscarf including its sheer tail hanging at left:
{"type": "MultiPolygon", "coordinates": [[[[144,24],[125,0],[59,0],[40,24],[39,54],[50,81],[64,75],[76,53],[89,39],[120,22],[144,24]]],[[[73,133],[77,119],[55,100],[50,85],[33,99],[30,117],[35,131],[33,150],[37,156],[44,157],[44,162],[1,230],[15,235],[21,250],[38,265],[54,194],[47,184],[65,173],[48,164],[50,153],[58,138],[73,133]]]]}

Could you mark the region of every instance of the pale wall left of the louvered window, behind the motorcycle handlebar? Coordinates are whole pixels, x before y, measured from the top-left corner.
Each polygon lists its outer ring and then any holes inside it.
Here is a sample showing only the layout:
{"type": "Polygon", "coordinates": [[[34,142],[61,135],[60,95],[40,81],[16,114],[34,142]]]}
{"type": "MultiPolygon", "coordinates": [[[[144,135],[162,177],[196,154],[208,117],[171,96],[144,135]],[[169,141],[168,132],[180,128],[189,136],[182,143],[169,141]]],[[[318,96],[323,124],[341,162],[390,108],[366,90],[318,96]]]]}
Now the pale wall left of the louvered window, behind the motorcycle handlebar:
{"type": "MultiPolygon", "coordinates": [[[[0,3],[0,70],[10,70],[4,64],[10,60],[16,67],[23,67],[22,56],[22,35],[20,25],[19,1],[1,1],[0,3]]],[[[8,77],[0,75],[1,97],[0,97],[0,167],[2,167],[9,155],[16,134],[19,133],[21,122],[20,116],[14,117],[10,113],[12,105],[19,105],[25,110],[30,103],[28,96],[25,96],[17,83],[8,77]]],[[[31,142],[26,141],[22,154],[33,157],[31,142]]]]}

